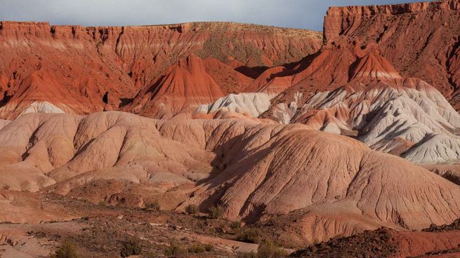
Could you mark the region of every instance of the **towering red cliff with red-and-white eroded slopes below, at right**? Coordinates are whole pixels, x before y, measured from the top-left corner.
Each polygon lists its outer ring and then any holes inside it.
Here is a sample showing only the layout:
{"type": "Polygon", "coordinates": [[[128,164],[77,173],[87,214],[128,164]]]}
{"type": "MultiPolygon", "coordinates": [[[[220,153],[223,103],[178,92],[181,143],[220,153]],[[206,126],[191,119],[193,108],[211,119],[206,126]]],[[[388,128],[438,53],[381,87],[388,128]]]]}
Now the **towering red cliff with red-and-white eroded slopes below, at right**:
{"type": "Polygon", "coordinates": [[[197,111],[305,123],[416,163],[455,163],[460,116],[457,72],[449,67],[456,65],[458,44],[444,46],[460,29],[458,4],[330,8],[320,51],[267,69],[247,88],[251,94],[229,95],[197,111]],[[428,27],[428,17],[440,26],[428,27]],[[410,53],[397,59],[406,48],[410,53]]]}

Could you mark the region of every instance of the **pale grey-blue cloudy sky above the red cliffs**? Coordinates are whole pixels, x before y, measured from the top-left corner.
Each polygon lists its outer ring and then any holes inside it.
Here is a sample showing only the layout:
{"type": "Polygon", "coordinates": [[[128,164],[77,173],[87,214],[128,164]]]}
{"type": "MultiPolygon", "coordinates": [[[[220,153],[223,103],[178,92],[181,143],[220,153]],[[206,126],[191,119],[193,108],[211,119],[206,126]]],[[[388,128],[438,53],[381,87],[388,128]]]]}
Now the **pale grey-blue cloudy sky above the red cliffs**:
{"type": "Polygon", "coordinates": [[[407,1],[411,0],[0,0],[0,20],[83,26],[223,21],[322,30],[329,6],[407,1]]]}

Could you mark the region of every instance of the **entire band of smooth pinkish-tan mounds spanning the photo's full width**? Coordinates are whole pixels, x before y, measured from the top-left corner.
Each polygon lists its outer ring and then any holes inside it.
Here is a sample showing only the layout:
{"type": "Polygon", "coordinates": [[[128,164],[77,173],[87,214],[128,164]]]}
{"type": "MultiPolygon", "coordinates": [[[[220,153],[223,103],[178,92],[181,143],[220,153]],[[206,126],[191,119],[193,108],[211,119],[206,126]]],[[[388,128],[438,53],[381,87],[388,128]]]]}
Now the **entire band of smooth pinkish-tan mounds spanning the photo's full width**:
{"type": "MultiPolygon", "coordinates": [[[[379,226],[422,229],[460,215],[456,184],[305,125],[164,121],[122,112],[25,114],[0,130],[0,147],[6,193],[48,191],[121,207],[156,199],[164,209],[196,204],[203,212],[220,204],[228,219],[292,219],[300,243],[379,226]]],[[[3,205],[4,211],[30,207],[3,205]]],[[[11,222],[53,217],[1,216],[11,222]]]]}

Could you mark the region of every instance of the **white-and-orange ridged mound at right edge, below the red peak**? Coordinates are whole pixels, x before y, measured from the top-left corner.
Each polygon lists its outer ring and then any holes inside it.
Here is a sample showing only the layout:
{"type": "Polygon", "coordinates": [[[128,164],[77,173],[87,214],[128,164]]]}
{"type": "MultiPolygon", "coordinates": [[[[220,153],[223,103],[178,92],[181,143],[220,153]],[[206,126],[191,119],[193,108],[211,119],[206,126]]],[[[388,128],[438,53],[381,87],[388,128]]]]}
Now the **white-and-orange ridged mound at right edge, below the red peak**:
{"type": "Polygon", "coordinates": [[[319,130],[355,131],[372,149],[419,163],[459,160],[460,116],[421,80],[372,83],[365,90],[339,88],[308,100],[293,118],[319,130]]]}

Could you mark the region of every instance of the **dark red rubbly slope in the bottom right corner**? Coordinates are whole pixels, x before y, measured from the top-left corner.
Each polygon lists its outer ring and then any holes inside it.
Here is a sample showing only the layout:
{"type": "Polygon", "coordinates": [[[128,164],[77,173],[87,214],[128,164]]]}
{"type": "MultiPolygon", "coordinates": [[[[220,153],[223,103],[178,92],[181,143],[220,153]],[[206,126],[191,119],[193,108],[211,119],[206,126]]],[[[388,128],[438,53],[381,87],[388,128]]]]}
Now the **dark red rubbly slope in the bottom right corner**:
{"type": "Polygon", "coordinates": [[[458,224],[459,219],[449,225],[423,229],[422,232],[398,232],[381,228],[311,245],[290,257],[458,257],[458,224]]]}

